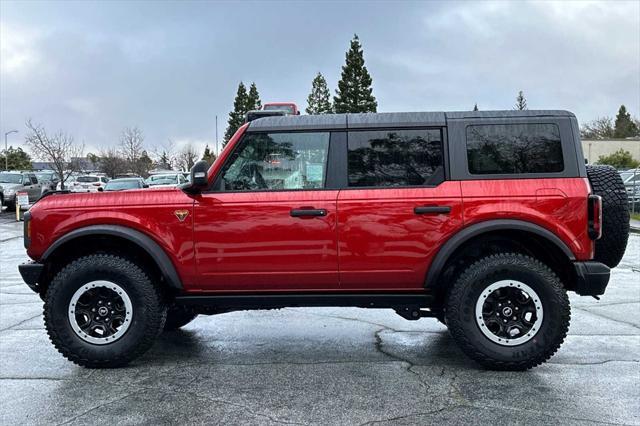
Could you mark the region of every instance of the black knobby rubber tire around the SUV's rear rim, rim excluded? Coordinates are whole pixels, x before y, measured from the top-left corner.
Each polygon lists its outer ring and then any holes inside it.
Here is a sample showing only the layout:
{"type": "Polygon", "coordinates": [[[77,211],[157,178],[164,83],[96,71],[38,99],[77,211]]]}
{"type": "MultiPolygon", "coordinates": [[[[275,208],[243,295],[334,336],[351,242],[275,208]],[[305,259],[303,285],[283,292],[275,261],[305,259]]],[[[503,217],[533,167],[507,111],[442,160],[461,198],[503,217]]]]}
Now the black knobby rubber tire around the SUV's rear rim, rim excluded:
{"type": "Polygon", "coordinates": [[[527,370],[547,361],[564,341],[570,320],[569,298],[558,277],[523,254],[495,254],[476,261],[459,275],[446,300],[446,321],[454,340],[470,358],[492,370],[527,370]],[[544,315],[538,332],[517,346],[491,341],[476,321],[478,298],[500,280],[525,283],[542,303],[544,315]]]}

